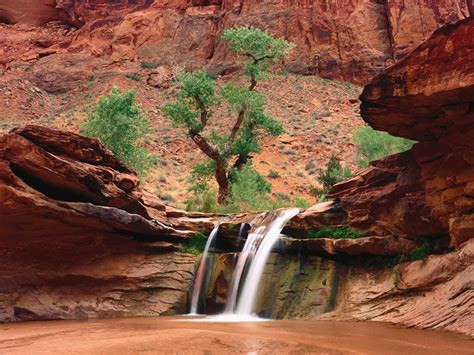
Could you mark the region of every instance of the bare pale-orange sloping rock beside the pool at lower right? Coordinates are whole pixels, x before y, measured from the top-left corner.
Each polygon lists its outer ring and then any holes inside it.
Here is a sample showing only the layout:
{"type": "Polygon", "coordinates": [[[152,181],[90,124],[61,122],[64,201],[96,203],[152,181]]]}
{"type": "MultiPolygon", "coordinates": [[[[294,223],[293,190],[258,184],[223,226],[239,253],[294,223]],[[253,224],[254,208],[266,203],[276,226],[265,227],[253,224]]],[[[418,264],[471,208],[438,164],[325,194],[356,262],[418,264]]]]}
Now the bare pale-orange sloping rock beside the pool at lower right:
{"type": "Polygon", "coordinates": [[[373,320],[474,336],[474,240],[392,270],[351,268],[321,319],[373,320]]]}

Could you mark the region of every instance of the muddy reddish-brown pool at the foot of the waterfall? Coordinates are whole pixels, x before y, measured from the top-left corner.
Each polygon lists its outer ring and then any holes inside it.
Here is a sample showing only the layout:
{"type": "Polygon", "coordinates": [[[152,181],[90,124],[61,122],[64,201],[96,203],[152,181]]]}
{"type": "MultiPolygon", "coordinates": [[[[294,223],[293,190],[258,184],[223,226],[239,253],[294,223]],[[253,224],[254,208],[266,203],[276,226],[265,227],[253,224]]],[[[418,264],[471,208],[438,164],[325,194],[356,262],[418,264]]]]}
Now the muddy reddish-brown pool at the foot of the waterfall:
{"type": "Polygon", "coordinates": [[[219,323],[184,317],[0,325],[1,354],[473,354],[457,334],[375,322],[219,323]]]}

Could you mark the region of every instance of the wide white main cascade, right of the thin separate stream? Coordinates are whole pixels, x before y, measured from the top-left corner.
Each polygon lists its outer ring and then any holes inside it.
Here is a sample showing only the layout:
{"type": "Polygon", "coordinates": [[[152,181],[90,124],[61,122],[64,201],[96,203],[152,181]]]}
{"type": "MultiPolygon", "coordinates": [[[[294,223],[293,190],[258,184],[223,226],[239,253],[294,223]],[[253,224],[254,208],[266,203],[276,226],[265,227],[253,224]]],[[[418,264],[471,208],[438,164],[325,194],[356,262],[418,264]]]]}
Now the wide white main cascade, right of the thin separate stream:
{"type": "Polygon", "coordinates": [[[226,313],[239,316],[253,314],[258,286],[272,247],[285,224],[298,213],[297,208],[277,210],[260,215],[253,221],[254,225],[237,260],[226,313]]]}

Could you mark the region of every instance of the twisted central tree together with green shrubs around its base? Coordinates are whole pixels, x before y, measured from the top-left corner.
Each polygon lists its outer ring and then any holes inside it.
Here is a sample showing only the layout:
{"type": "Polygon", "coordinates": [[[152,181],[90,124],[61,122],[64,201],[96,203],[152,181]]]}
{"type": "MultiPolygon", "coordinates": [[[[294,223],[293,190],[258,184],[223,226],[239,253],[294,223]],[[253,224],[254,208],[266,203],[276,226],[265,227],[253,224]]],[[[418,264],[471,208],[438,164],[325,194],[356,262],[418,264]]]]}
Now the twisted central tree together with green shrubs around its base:
{"type": "Polygon", "coordinates": [[[189,204],[206,205],[206,209],[212,207],[213,193],[207,185],[212,176],[219,185],[221,204],[248,205],[247,200],[258,195],[257,188],[268,194],[270,185],[253,169],[251,154],[261,151],[262,133],[277,136],[283,132],[283,126],[266,112],[265,95],[255,88],[269,65],[292,48],[286,40],[251,27],[226,30],[223,40],[232,53],[247,60],[243,74],[250,79],[248,85],[242,85],[241,81],[240,84],[230,80],[217,82],[203,70],[182,72],[177,78],[176,100],[162,107],[165,117],[176,127],[187,130],[209,159],[194,169],[196,199],[189,204]],[[218,118],[214,117],[216,111],[218,118]],[[246,181],[242,188],[248,190],[245,194],[239,190],[242,179],[246,181]],[[236,191],[239,191],[237,195],[236,191]],[[244,195],[248,195],[245,203],[239,200],[244,195]]]}

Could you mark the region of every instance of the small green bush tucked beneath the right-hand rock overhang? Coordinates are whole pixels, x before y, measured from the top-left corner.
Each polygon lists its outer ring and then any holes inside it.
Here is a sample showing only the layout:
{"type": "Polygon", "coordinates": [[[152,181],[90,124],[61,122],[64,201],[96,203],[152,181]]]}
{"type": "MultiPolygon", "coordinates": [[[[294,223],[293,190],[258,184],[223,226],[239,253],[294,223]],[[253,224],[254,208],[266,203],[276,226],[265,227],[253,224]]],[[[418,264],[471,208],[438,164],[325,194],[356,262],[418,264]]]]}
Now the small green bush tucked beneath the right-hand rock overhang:
{"type": "Polygon", "coordinates": [[[373,160],[409,150],[415,141],[394,137],[371,127],[359,128],[353,137],[357,147],[357,164],[366,167],[373,160]]]}

